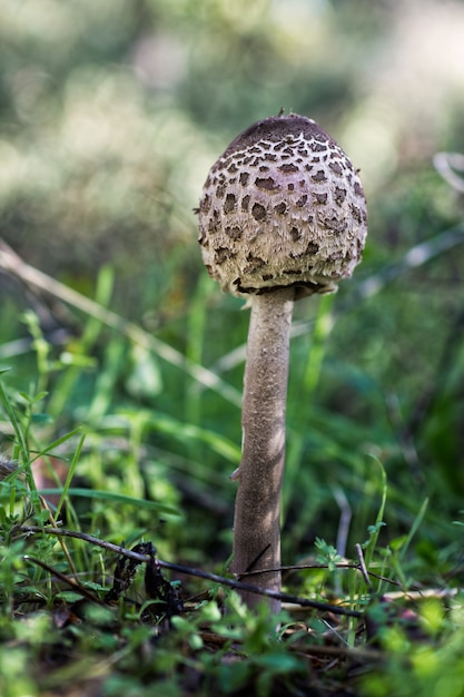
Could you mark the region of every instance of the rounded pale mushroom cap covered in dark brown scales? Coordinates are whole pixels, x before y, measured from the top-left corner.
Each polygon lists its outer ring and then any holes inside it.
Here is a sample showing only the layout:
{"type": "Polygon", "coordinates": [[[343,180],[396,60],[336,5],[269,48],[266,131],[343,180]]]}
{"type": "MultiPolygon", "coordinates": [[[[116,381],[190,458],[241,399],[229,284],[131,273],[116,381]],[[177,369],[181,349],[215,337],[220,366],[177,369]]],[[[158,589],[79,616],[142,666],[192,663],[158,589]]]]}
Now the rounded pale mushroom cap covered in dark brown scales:
{"type": "Polygon", "coordinates": [[[351,160],[297,114],[257,121],[211,167],[199,206],[209,275],[234,295],[336,291],[361,262],[366,199],[351,160]]]}

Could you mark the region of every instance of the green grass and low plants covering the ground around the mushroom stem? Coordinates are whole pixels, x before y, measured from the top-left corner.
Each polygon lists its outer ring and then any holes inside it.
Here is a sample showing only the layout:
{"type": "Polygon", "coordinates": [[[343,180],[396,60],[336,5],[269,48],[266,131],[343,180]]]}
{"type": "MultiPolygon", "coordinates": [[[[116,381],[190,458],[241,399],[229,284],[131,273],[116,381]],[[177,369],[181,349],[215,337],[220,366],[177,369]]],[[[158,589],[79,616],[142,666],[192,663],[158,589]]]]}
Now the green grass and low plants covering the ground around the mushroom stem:
{"type": "Polygon", "coordinates": [[[440,446],[454,448],[462,351],[450,366],[446,341],[416,345],[443,379],[414,430],[417,375],[392,383],[378,348],[404,297],[392,289],[384,314],[385,294],[363,313],[349,295],[297,307],[283,520],[295,602],[253,615],[227,572],[247,316],[229,301],[226,320],[208,312],[217,291],[201,281],[184,328],[154,341],[107,310],[111,287],[109,268],[95,301],[55,286],[79,335],[52,345],[28,312],[31,353],[2,369],[0,694],[463,694],[464,507],[440,446]]]}

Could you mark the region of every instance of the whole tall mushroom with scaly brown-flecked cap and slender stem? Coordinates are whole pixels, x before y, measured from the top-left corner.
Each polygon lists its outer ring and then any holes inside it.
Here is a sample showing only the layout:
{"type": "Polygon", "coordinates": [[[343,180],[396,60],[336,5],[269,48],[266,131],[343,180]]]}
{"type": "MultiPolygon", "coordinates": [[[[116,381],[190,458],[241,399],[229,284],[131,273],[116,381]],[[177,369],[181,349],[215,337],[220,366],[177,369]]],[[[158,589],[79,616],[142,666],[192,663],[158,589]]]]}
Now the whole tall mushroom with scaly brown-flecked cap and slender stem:
{"type": "MultiPolygon", "coordinates": [[[[352,163],[312,119],[258,121],[211,167],[199,207],[209,275],[249,298],[243,457],[234,520],[233,571],[280,590],[280,491],[294,301],[332,293],[359,263],[366,202],[352,163]],[[256,572],[256,573],[255,573],[256,572]]],[[[243,593],[254,607],[260,597],[243,593]]],[[[278,611],[278,599],[269,600],[278,611]]]]}

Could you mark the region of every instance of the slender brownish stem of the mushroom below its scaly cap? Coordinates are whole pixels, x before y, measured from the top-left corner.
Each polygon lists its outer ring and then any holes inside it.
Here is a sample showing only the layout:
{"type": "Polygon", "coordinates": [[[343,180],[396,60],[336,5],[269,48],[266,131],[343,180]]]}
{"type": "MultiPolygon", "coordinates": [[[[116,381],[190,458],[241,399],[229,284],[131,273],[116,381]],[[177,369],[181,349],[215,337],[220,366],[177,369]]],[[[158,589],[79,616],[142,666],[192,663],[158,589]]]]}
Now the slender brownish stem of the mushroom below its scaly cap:
{"type": "MultiPolygon", "coordinates": [[[[233,571],[240,576],[259,570],[247,580],[276,591],[280,590],[280,492],[294,297],[294,287],[251,297],[234,521],[233,571]]],[[[241,597],[250,608],[263,600],[250,592],[241,597]]],[[[272,611],[279,611],[279,600],[268,602],[272,611]]]]}

